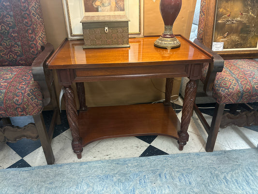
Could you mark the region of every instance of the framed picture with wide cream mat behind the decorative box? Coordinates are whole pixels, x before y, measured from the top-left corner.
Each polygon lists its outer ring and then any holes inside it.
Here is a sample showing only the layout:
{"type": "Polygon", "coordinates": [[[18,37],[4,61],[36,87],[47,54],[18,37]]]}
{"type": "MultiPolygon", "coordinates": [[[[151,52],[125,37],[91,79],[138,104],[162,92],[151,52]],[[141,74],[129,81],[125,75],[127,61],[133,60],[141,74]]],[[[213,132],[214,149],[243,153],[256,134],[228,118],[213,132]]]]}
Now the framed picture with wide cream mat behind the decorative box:
{"type": "Polygon", "coordinates": [[[143,36],[143,0],[63,0],[68,39],[83,39],[83,16],[126,15],[129,37],[143,36]]]}

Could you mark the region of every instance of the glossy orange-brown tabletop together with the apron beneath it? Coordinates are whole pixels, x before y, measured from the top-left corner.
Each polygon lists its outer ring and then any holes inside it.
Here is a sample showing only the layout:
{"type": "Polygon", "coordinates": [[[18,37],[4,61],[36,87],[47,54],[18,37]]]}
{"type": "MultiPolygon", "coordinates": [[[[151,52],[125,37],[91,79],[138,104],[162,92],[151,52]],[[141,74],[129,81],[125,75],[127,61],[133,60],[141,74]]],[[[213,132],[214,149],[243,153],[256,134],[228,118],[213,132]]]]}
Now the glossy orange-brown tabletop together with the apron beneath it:
{"type": "Polygon", "coordinates": [[[83,41],[65,40],[47,61],[57,69],[59,82],[111,81],[135,78],[175,78],[195,76],[212,56],[197,45],[177,36],[182,46],[160,49],[153,43],[157,37],[131,38],[130,48],[82,49],[83,41]]]}

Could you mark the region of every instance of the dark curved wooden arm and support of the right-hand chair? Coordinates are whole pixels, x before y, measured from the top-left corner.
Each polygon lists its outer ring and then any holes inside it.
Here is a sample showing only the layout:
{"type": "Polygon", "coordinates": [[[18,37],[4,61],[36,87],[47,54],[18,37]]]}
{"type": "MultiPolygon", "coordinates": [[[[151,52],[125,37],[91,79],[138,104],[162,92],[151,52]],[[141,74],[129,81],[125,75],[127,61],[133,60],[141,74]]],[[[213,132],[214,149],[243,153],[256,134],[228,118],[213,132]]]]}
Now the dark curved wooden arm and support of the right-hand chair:
{"type": "Polygon", "coordinates": [[[209,64],[208,72],[206,75],[205,83],[203,86],[204,92],[209,96],[212,97],[212,87],[214,85],[214,81],[216,78],[217,72],[221,72],[224,67],[224,59],[218,55],[216,52],[212,51],[210,48],[205,47],[201,40],[195,39],[194,43],[197,44],[200,48],[206,50],[213,56],[213,63],[209,64]]]}

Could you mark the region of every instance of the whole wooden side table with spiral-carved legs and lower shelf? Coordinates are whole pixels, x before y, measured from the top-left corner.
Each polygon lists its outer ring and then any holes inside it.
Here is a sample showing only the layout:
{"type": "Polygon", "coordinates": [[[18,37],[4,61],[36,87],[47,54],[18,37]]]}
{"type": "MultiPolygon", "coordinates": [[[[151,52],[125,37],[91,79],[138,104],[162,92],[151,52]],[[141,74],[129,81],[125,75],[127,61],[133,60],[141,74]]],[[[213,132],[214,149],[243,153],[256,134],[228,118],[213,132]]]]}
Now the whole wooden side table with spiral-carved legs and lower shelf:
{"type": "Polygon", "coordinates": [[[66,113],[72,132],[72,147],[81,158],[82,147],[93,141],[122,136],[167,135],[178,140],[179,149],[186,145],[187,129],[193,112],[203,63],[212,56],[188,39],[177,35],[181,47],[159,49],[157,37],[131,38],[130,48],[82,49],[83,40],[64,40],[47,61],[56,69],[64,86],[66,113]],[[163,104],[137,104],[110,107],[87,107],[85,81],[109,81],[135,78],[166,78],[163,104]],[[170,96],[174,77],[188,77],[183,100],[181,123],[173,111],[170,96]],[[74,91],[76,82],[80,102],[77,114],[74,91]]]}

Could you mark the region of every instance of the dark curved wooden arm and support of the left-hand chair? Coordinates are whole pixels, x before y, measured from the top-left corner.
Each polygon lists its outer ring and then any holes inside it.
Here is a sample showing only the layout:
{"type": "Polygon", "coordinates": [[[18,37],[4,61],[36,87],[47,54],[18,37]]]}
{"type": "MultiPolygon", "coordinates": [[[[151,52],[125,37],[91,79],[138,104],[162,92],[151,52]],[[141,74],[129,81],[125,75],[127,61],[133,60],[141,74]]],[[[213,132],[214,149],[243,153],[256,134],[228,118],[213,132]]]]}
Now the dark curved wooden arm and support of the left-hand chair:
{"type": "Polygon", "coordinates": [[[42,94],[44,106],[48,105],[51,101],[50,86],[53,82],[52,72],[46,68],[46,61],[53,54],[54,47],[50,43],[42,46],[42,52],[33,61],[31,65],[32,75],[34,81],[37,81],[42,94]]]}

